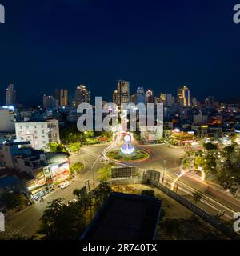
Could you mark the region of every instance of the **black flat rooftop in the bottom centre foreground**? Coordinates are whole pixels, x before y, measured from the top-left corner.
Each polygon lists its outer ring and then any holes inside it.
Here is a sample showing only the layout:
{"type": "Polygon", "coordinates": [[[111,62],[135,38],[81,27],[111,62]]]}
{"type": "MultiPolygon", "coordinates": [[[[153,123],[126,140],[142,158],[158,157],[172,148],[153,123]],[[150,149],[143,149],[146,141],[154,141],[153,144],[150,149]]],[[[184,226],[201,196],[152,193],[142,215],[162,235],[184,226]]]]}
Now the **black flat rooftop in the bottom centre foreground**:
{"type": "Polygon", "coordinates": [[[82,239],[152,240],[161,205],[158,198],[114,192],[90,222],[82,239]]]}

